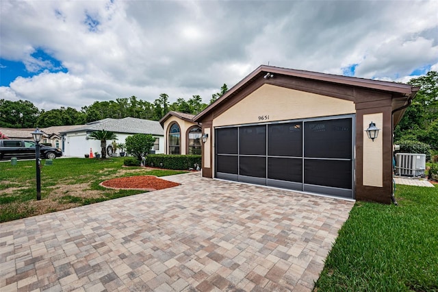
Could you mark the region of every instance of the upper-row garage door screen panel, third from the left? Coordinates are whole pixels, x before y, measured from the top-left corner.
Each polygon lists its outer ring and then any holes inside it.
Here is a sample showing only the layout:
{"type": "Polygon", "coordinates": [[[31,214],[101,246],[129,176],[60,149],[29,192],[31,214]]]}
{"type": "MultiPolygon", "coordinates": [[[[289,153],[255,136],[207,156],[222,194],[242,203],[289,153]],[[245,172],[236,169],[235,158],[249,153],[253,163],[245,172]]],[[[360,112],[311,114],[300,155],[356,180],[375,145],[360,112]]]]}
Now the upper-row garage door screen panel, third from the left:
{"type": "Polygon", "coordinates": [[[268,155],[302,156],[302,123],[268,125],[268,155]]]}

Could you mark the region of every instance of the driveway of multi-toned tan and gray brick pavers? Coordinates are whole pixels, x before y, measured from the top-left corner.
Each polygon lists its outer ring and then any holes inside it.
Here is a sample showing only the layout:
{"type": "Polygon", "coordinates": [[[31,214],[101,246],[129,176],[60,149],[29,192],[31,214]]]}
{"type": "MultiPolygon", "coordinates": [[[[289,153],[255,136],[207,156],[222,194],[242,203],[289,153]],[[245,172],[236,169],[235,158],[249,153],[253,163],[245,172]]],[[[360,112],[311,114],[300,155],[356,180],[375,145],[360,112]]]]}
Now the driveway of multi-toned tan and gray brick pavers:
{"type": "Polygon", "coordinates": [[[0,291],[310,291],[353,202],[181,186],[0,225],[0,291]]]}

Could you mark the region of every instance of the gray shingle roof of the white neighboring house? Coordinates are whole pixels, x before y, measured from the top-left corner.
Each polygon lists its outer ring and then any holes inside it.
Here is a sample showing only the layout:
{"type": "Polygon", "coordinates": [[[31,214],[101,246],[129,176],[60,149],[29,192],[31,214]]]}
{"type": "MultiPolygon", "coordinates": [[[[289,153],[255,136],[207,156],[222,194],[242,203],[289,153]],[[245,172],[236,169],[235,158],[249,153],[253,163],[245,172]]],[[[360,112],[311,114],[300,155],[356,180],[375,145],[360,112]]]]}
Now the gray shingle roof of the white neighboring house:
{"type": "Polygon", "coordinates": [[[163,127],[159,124],[158,121],[150,121],[132,117],[127,117],[124,119],[107,118],[100,121],[87,123],[86,125],[81,125],[81,127],[77,127],[74,130],[62,131],[62,133],[97,130],[127,134],[153,134],[164,136],[163,127]]]}

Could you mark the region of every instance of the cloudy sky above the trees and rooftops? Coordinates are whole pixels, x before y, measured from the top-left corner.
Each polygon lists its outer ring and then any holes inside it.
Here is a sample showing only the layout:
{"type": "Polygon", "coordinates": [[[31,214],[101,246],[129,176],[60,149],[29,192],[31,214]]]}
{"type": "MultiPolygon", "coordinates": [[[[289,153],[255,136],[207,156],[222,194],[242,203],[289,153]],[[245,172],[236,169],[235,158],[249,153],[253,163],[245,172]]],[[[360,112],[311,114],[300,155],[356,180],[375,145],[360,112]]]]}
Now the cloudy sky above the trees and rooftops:
{"type": "Polygon", "coordinates": [[[407,82],[438,70],[438,1],[0,1],[0,99],[208,102],[261,64],[407,82]]]}

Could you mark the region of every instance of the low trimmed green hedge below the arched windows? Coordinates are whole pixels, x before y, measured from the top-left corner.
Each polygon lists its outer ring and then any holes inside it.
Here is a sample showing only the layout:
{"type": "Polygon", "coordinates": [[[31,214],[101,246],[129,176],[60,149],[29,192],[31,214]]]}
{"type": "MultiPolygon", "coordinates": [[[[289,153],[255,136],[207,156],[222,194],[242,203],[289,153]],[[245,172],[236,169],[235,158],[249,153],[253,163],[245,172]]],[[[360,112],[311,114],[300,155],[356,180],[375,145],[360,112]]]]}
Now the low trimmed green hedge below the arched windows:
{"type": "Polygon", "coordinates": [[[195,169],[195,165],[201,167],[201,157],[201,155],[149,154],[146,156],[146,166],[175,170],[195,169]]]}

